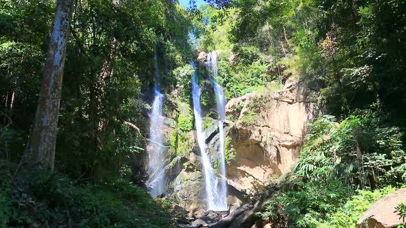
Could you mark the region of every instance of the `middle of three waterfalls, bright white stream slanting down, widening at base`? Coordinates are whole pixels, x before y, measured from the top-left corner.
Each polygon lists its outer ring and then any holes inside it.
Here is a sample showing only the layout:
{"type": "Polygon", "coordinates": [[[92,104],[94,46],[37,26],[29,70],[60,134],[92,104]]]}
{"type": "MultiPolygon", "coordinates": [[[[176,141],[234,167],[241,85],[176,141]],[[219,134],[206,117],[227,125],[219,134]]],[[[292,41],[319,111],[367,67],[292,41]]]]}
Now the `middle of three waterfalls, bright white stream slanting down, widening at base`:
{"type": "MultiPolygon", "coordinates": [[[[194,62],[191,62],[193,69],[195,69],[194,62]]],[[[204,139],[204,128],[202,118],[202,106],[200,105],[201,88],[198,84],[197,73],[193,72],[192,78],[192,98],[193,98],[193,112],[195,114],[195,126],[197,132],[197,144],[199,144],[200,154],[202,156],[202,166],[204,174],[204,187],[207,196],[207,207],[214,211],[222,211],[227,209],[226,200],[223,202],[222,196],[219,191],[219,181],[214,174],[213,167],[206,153],[206,143],[204,139]]]]}

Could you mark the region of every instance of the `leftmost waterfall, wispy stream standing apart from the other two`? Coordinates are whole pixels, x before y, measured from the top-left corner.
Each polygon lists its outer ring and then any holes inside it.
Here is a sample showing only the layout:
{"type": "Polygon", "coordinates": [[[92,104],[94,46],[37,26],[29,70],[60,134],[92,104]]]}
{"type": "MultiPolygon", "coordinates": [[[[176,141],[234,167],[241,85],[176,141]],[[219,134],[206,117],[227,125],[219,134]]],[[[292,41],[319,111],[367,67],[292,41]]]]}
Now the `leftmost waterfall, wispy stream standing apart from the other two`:
{"type": "Polygon", "coordinates": [[[164,128],[163,121],[163,100],[164,95],[160,92],[160,72],[158,68],[157,56],[155,56],[155,86],[153,88],[155,98],[152,103],[152,111],[150,114],[151,124],[149,126],[149,181],[147,181],[147,187],[149,194],[156,197],[160,196],[164,192],[165,187],[165,154],[164,149],[164,128]]]}

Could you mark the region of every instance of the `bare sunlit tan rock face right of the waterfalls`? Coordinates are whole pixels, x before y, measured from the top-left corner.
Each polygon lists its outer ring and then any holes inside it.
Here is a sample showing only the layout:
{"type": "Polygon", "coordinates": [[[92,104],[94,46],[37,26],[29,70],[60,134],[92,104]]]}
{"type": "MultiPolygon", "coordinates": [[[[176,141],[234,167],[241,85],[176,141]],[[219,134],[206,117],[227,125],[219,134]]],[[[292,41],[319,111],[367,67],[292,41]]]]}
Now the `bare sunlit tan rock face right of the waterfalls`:
{"type": "Polygon", "coordinates": [[[318,115],[314,91],[299,82],[274,93],[248,93],[226,106],[236,124],[229,130],[235,159],[227,166],[228,183],[253,194],[275,175],[285,174],[299,157],[307,124],[318,115]]]}

